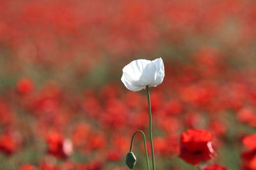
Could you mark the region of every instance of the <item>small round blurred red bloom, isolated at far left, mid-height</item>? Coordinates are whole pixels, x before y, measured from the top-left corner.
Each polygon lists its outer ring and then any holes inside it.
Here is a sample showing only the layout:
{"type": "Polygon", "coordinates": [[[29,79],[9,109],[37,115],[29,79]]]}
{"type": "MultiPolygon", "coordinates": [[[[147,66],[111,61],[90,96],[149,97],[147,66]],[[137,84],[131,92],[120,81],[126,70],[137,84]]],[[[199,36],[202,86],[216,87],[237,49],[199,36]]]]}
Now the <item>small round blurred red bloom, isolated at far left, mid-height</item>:
{"type": "Polygon", "coordinates": [[[21,95],[29,94],[33,90],[33,81],[29,78],[20,78],[17,82],[17,92],[21,95]]]}

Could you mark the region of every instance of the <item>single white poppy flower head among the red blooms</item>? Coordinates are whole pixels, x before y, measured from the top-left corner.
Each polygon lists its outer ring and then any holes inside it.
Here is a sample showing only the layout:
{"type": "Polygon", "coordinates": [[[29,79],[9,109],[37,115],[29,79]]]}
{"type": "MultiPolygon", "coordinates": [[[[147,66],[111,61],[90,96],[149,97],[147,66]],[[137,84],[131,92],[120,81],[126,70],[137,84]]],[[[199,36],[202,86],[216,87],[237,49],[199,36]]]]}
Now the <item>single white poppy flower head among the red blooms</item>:
{"type": "Polygon", "coordinates": [[[127,89],[134,92],[145,89],[147,85],[156,87],[164,80],[163,60],[134,60],[123,68],[121,80],[127,89]]]}

